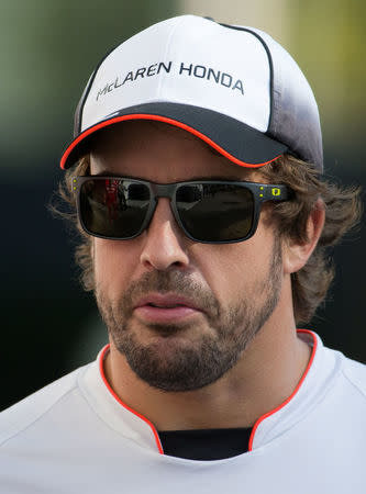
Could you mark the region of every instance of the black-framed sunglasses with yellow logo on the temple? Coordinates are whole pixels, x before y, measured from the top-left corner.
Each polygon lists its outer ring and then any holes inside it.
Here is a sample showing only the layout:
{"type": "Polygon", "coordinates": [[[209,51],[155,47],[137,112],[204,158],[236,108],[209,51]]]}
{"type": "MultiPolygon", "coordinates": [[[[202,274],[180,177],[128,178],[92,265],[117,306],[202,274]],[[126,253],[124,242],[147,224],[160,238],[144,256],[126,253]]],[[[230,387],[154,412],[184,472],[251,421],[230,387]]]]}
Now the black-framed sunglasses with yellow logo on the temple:
{"type": "Polygon", "coordinates": [[[290,190],[268,183],[199,180],[154,183],[123,177],[75,177],[80,224],[89,235],[129,240],[144,232],[157,198],[169,198],[175,220],[192,240],[231,244],[257,228],[262,204],[285,201],[290,190]]]}

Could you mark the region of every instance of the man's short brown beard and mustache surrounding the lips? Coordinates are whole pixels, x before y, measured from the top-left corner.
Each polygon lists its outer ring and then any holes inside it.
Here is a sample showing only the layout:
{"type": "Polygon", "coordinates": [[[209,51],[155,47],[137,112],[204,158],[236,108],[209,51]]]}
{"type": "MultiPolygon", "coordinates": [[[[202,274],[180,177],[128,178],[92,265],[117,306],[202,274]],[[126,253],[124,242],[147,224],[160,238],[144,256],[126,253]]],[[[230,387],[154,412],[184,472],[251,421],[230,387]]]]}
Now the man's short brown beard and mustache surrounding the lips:
{"type": "Polygon", "coordinates": [[[132,371],[153,388],[182,392],[207,386],[235,366],[270,317],[280,291],[281,246],[275,238],[266,276],[228,307],[208,285],[178,269],[146,272],[115,302],[99,287],[96,299],[109,336],[132,371]],[[203,311],[200,321],[147,325],[134,319],[134,302],[151,292],[174,292],[193,300],[203,311]],[[144,338],[146,330],[156,337],[144,338]]]}

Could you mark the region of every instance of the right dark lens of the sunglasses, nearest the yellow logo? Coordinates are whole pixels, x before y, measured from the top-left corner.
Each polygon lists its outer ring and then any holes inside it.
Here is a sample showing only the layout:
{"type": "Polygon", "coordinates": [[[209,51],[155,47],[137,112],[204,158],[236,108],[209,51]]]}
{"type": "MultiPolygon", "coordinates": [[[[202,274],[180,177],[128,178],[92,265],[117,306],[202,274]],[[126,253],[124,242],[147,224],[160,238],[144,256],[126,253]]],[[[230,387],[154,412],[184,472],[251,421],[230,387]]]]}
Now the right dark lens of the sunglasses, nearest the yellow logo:
{"type": "Polygon", "coordinates": [[[244,187],[228,183],[181,186],[176,194],[184,227],[197,240],[229,242],[247,236],[253,225],[254,198],[244,187]]]}

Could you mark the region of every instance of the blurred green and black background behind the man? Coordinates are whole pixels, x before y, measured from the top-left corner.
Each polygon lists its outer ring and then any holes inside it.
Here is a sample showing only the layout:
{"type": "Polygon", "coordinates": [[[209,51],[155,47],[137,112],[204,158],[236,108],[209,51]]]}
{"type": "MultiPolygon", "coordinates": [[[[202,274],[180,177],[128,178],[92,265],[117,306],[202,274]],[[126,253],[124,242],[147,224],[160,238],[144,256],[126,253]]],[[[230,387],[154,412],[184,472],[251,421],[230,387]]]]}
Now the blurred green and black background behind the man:
{"type": "MultiPolygon", "coordinates": [[[[3,408],[96,357],[107,341],[78,284],[77,238],[46,204],[62,177],[74,110],[98,60],[163,19],[196,13],[271,34],[320,108],[325,167],[366,183],[366,3],[357,0],[0,0],[1,366],[3,408]]],[[[366,362],[365,229],[335,248],[335,283],[311,328],[366,362]]]]}

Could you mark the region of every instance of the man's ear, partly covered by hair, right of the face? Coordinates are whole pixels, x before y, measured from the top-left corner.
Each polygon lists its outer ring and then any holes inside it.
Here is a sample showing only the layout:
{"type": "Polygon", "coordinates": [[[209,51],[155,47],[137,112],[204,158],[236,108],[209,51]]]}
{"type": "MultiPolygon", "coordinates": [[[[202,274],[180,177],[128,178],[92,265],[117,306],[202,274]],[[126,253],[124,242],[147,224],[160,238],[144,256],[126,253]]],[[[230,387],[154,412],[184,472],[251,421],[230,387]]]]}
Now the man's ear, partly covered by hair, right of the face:
{"type": "Polygon", "coordinates": [[[292,273],[299,271],[308,261],[317,247],[325,222],[324,203],[319,199],[307,222],[307,240],[288,239],[284,244],[284,271],[292,273]]]}

